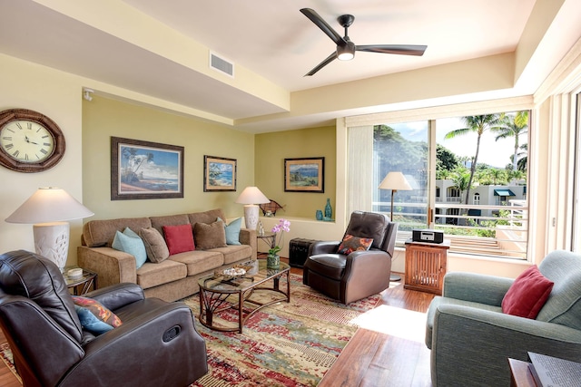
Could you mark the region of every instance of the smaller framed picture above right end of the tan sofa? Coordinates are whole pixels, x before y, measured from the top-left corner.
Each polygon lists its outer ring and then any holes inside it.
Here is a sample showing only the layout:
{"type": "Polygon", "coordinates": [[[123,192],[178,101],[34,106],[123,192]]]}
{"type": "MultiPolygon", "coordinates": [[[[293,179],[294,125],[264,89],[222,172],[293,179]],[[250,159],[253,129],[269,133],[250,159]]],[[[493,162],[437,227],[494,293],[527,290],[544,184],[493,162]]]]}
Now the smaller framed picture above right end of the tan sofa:
{"type": "Polygon", "coordinates": [[[236,159],[203,156],[203,191],[235,191],[236,159]]]}

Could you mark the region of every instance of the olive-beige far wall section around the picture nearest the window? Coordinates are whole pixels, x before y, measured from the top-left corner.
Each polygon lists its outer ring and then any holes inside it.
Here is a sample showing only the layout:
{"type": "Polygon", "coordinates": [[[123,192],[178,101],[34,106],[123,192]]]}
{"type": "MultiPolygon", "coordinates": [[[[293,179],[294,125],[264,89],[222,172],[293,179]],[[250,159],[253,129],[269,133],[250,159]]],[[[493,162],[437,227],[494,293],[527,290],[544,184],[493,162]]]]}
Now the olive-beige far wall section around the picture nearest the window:
{"type": "Polygon", "coordinates": [[[336,137],[335,127],[300,131],[278,131],[256,135],[255,183],[271,200],[284,206],[278,217],[315,219],[327,198],[335,208],[336,137]],[[284,159],[325,158],[325,192],[285,192],[284,159]]]}

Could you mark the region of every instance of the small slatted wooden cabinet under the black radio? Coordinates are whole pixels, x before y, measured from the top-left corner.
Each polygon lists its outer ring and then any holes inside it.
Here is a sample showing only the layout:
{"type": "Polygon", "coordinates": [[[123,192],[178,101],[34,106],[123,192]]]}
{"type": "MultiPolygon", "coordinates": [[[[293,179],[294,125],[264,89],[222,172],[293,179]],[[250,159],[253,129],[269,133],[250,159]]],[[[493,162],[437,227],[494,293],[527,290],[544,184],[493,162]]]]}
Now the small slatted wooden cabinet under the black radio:
{"type": "Polygon", "coordinates": [[[444,275],[448,265],[450,241],[443,243],[406,241],[406,289],[442,294],[444,275]]]}

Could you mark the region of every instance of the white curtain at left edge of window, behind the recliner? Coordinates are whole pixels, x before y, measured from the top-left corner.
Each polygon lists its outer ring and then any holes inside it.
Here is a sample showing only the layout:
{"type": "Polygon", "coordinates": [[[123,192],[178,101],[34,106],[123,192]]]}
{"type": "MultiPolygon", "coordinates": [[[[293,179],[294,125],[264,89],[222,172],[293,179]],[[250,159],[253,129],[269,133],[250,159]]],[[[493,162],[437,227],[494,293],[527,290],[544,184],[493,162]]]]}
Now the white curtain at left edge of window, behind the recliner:
{"type": "Polygon", "coordinates": [[[347,215],[350,217],[355,210],[372,208],[373,126],[347,128],[347,133],[347,215]]]}

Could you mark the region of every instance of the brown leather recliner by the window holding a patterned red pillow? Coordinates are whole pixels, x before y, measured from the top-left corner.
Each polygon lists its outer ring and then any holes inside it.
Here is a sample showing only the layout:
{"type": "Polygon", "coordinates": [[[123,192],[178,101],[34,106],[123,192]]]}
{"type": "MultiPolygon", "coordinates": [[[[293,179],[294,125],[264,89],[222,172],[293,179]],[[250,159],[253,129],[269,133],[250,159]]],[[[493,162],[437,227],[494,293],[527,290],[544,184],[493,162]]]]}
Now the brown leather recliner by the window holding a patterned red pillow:
{"type": "Polygon", "coordinates": [[[340,241],[315,242],[303,267],[302,282],[331,298],[349,304],[389,287],[391,259],[398,224],[375,212],[351,214],[345,235],[372,237],[367,251],[338,254],[340,241]]]}

